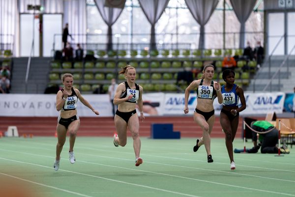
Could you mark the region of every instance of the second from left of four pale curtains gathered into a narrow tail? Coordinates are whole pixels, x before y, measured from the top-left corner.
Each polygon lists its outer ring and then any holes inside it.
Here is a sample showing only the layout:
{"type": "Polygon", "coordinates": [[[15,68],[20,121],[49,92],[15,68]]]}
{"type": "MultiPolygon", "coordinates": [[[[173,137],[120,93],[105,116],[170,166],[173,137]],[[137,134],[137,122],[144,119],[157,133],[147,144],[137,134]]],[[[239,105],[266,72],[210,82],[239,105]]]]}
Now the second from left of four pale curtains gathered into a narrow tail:
{"type": "Polygon", "coordinates": [[[148,22],[151,25],[150,29],[150,49],[156,49],[156,35],[155,24],[163,14],[168,5],[169,0],[138,0],[139,4],[144,11],[148,22]]]}

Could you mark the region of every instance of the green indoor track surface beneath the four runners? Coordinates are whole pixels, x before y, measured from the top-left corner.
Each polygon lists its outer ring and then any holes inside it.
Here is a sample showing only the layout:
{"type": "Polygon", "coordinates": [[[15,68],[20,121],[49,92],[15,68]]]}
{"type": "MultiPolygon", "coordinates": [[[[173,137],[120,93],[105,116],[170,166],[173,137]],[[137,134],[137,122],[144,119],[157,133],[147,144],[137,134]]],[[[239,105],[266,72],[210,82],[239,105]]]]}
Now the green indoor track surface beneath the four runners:
{"type": "MultiPolygon", "coordinates": [[[[291,147],[281,157],[235,154],[231,171],[222,138],[211,139],[214,162],[208,164],[204,146],[193,152],[196,138],[142,137],[144,163],[138,167],[131,138],[125,147],[115,147],[112,137],[78,136],[75,164],[68,160],[68,140],[55,171],[57,138],[0,138],[0,184],[23,184],[31,197],[295,197],[291,147]]],[[[234,148],[243,146],[242,139],[234,141],[234,148]]]]}

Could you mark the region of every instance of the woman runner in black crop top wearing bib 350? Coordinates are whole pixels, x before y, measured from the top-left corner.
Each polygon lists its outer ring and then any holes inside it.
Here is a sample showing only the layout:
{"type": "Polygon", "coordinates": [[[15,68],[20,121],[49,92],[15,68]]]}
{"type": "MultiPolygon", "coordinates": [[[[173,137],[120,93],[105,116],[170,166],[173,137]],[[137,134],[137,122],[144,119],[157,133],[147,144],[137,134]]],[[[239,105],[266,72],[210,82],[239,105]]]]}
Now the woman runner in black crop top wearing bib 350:
{"type": "Polygon", "coordinates": [[[202,128],[203,137],[197,139],[197,143],[194,146],[194,152],[197,152],[199,147],[205,144],[207,152],[207,162],[212,163],[212,155],[210,150],[210,133],[212,131],[215,115],[213,108],[214,99],[218,98],[218,102],[222,103],[221,88],[218,82],[212,80],[214,75],[214,66],[204,66],[203,76],[199,80],[194,80],[186,89],[184,93],[184,114],[189,112],[188,110],[188,98],[192,90],[197,88],[197,106],[194,111],[194,121],[202,128]]]}

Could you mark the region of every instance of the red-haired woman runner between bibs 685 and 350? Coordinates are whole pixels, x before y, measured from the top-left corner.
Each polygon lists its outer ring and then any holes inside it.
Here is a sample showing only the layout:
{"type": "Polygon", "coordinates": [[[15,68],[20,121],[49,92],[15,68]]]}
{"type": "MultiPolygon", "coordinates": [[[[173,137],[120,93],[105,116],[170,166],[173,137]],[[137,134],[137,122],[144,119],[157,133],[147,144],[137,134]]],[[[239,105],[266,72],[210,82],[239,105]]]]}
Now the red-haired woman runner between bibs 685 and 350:
{"type": "Polygon", "coordinates": [[[135,166],[143,163],[140,158],[141,140],[139,138],[139,119],[136,113],[136,102],[140,111],[140,119],[144,121],[143,112],[143,87],[135,83],[136,70],[133,66],[127,65],[119,71],[124,74],[126,81],[120,83],[114,97],[114,104],[118,105],[115,115],[116,131],[114,135],[114,145],[116,147],[125,146],[127,143],[127,127],[131,131],[133,138],[133,149],[135,153],[135,166]]]}

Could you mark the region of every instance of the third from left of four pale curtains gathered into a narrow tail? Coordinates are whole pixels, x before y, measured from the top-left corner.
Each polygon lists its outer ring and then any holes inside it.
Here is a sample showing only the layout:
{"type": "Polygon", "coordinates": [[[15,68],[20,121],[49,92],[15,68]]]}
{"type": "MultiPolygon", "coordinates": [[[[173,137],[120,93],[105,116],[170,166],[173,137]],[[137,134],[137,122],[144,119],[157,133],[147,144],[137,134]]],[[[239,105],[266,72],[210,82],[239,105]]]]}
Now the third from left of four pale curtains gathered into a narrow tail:
{"type": "Polygon", "coordinates": [[[185,3],[200,25],[199,49],[205,48],[205,25],[215,10],[218,0],[185,0],[185,3]]]}

